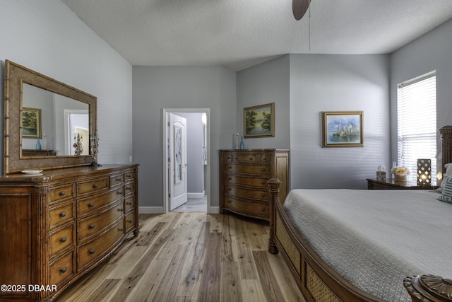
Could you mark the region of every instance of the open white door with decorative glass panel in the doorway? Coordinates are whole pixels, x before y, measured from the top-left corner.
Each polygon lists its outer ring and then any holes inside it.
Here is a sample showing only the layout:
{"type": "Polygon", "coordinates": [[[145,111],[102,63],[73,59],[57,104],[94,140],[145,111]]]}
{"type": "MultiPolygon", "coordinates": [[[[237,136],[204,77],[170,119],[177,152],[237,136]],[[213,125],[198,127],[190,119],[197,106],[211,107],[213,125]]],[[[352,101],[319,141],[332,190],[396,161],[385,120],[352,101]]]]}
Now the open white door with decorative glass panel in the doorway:
{"type": "Polygon", "coordinates": [[[169,113],[169,211],[187,202],[186,119],[169,113]]]}

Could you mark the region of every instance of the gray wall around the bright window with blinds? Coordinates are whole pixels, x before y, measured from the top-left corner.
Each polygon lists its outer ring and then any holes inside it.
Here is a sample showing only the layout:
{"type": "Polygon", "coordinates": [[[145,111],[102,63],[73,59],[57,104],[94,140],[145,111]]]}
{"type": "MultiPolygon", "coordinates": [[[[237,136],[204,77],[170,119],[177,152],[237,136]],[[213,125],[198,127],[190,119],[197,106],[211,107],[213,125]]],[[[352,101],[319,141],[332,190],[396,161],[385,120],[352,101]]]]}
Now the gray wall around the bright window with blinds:
{"type": "MultiPolygon", "coordinates": [[[[397,160],[397,85],[436,70],[436,125],[452,124],[452,20],[391,54],[391,158],[397,160]]],[[[441,154],[438,132],[437,153],[441,154]]],[[[440,156],[441,157],[441,156],[440,156]]],[[[436,163],[441,170],[441,158],[436,163]]]]}

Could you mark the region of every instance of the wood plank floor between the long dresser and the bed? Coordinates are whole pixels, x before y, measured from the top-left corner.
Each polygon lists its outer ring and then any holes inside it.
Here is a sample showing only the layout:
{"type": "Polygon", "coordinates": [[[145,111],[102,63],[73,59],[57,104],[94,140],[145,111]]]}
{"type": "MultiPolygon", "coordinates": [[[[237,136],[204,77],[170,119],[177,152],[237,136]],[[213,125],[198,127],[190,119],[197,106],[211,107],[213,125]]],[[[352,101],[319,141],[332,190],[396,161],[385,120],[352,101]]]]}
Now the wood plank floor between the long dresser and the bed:
{"type": "Polygon", "coordinates": [[[140,214],[138,237],[58,301],[304,301],[268,223],[198,212],[140,214]]]}

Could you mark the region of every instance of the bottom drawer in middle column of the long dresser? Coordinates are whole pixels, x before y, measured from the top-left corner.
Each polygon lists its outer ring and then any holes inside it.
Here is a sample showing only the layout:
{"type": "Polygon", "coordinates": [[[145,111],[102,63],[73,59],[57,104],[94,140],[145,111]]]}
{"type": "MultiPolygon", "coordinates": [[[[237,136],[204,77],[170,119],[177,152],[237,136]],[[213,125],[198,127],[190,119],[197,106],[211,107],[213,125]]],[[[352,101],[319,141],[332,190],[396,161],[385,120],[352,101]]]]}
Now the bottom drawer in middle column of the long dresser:
{"type": "Polygon", "coordinates": [[[84,245],[77,248],[77,267],[78,270],[82,269],[90,262],[99,260],[100,257],[105,255],[105,252],[110,248],[114,248],[114,245],[121,240],[124,234],[124,220],[118,221],[117,224],[112,226],[108,231],[97,236],[94,240],[91,240],[84,245]]]}

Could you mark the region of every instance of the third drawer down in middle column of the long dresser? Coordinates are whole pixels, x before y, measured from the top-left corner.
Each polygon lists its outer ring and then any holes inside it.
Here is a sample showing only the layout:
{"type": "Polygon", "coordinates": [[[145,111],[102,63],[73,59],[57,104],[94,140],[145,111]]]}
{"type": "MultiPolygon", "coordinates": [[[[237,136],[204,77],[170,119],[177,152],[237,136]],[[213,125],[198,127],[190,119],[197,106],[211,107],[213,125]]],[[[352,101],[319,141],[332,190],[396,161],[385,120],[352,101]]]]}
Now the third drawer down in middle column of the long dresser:
{"type": "Polygon", "coordinates": [[[122,202],[118,202],[114,207],[102,211],[96,216],[91,216],[88,219],[78,221],[77,239],[82,241],[100,233],[105,227],[123,216],[123,207],[124,205],[122,202]]]}

